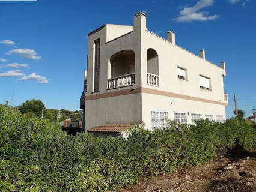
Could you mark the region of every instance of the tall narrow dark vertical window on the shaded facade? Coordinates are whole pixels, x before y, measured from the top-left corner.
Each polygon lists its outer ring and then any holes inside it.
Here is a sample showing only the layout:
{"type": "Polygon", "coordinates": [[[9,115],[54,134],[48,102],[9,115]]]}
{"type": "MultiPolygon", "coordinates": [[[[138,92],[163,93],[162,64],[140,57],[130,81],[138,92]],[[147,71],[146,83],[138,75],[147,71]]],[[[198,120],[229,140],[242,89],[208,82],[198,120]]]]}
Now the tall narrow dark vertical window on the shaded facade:
{"type": "Polygon", "coordinates": [[[100,38],[94,41],[94,91],[100,89],[100,38]]]}

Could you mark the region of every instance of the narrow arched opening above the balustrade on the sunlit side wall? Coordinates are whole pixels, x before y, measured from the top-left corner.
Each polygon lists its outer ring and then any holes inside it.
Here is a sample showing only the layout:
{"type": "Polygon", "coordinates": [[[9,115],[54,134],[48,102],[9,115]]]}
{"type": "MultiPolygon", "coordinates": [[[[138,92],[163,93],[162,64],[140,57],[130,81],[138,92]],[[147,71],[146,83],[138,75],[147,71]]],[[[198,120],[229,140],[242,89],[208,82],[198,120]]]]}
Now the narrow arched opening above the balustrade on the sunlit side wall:
{"type": "Polygon", "coordinates": [[[158,55],[152,48],[147,50],[147,73],[159,75],[158,55]]]}

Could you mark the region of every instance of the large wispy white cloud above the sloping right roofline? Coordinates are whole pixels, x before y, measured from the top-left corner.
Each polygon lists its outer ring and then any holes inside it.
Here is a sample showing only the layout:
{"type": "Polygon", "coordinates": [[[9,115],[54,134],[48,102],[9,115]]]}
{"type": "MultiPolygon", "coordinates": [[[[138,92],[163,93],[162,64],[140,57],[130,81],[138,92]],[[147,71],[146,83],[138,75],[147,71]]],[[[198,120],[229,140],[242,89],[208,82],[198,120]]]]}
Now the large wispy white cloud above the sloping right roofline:
{"type": "Polygon", "coordinates": [[[210,7],[213,5],[213,0],[200,0],[193,7],[185,7],[180,11],[180,16],[176,19],[177,22],[192,22],[192,21],[206,21],[206,20],[214,20],[219,17],[219,15],[208,16],[209,13],[198,12],[202,8],[210,7]]]}

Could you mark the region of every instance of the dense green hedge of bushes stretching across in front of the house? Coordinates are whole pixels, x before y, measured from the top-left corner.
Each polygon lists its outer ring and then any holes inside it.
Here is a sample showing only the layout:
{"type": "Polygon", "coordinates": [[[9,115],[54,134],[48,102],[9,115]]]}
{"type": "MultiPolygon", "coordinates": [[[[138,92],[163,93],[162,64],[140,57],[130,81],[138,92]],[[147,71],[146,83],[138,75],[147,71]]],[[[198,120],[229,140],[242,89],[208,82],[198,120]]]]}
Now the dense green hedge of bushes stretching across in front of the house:
{"type": "Polygon", "coordinates": [[[135,125],[124,140],[68,135],[47,119],[0,108],[0,191],[116,191],[142,176],[212,160],[218,151],[256,145],[255,125],[238,118],[189,127],[169,121],[154,131],[135,125]]]}

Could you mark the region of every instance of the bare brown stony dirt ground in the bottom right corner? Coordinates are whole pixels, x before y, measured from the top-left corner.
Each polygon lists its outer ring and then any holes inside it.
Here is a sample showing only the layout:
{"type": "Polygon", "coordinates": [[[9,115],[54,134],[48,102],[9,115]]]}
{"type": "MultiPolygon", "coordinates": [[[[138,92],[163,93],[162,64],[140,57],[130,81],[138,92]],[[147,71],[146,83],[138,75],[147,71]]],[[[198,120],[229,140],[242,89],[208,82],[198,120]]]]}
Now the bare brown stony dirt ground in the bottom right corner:
{"type": "Polygon", "coordinates": [[[179,169],[171,175],[161,175],[140,184],[123,188],[120,192],[255,192],[255,154],[240,160],[219,158],[207,164],[179,169]]]}

